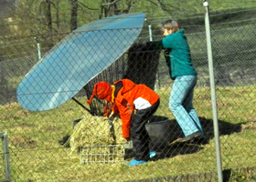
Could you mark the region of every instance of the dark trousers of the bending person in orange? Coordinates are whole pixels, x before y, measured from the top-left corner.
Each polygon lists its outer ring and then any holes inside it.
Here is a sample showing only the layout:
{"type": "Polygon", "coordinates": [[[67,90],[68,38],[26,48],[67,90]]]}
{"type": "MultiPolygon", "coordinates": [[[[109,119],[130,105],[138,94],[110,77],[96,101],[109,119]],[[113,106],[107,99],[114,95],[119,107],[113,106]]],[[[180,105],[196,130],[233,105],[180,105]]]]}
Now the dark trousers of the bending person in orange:
{"type": "Polygon", "coordinates": [[[136,160],[147,160],[149,154],[150,137],[145,129],[148,119],[153,116],[160,104],[158,99],[153,106],[138,110],[131,122],[131,139],[133,140],[133,153],[136,160]]]}

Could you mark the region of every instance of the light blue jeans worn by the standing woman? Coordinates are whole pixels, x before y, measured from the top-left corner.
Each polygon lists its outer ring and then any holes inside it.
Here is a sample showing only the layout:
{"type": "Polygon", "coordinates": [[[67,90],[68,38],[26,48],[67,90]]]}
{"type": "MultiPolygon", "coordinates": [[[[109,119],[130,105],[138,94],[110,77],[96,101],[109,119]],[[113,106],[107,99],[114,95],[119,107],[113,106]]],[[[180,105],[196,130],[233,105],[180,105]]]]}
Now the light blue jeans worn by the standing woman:
{"type": "Polygon", "coordinates": [[[170,94],[169,108],[185,136],[197,131],[200,131],[203,136],[202,126],[192,105],[196,85],[197,76],[176,76],[170,94]]]}

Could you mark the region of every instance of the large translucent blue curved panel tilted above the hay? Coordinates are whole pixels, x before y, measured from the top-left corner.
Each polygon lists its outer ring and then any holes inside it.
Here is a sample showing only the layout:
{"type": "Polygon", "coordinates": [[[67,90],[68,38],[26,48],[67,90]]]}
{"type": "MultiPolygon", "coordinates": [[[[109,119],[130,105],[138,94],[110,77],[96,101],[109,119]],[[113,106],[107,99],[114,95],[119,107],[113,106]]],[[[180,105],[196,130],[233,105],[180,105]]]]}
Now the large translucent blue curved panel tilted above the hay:
{"type": "Polygon", "coordinates": [[[16,89],[19,104],[43,111],[67,102],[133,45],[144,18],[116,15],[80,26],[27,73],[16,89]]]}

